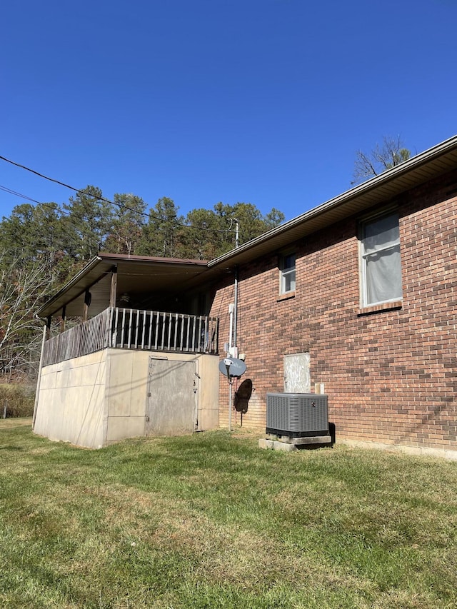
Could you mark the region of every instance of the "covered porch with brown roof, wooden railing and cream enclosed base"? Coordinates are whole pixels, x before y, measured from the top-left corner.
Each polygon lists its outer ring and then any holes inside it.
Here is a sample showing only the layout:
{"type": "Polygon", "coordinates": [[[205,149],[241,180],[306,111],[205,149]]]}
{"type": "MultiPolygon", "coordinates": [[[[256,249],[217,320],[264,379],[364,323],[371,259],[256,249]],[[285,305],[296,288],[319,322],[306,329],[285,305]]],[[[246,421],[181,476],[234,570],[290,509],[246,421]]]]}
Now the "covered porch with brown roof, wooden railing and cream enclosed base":
{"type": "Polygon", "coordinates": [[[81,269],[37,312],[35,433],[101,448],[217,428],[211,275],[202,261],[116,254],[81,269]]]}

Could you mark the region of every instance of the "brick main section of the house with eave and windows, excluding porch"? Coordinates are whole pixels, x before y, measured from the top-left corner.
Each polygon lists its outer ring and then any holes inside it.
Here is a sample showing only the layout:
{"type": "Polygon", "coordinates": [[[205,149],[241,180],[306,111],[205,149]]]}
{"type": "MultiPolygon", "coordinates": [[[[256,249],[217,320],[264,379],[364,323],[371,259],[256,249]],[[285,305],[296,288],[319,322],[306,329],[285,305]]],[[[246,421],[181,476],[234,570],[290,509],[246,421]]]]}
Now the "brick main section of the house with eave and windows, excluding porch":
{"type": "MultiPolygon", "coordinates": [[[[211,261],[220,342],[253,383],[236,422],[264,428],[266,393],[318,388],[337,441],[457,458],[456,246],[453,137],[211,261]]],[[[221,426],[228,401],[221,377],[221,426]]]]}

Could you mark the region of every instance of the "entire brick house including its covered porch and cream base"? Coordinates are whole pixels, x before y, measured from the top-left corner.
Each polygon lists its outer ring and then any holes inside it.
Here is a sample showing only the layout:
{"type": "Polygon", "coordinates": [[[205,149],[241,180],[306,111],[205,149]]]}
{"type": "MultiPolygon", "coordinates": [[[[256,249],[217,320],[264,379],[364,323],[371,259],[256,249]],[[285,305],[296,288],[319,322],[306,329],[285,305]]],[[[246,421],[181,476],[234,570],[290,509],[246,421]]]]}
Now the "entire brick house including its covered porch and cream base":
{"type": "Polygon", "coordinates": [[[454,136],[209,263],[99,254],[37,312],[34,430],[265,431],[267,393],[317,390],[336,441],[457,459],[456,246],[454,136]],[[53,316],[82,323],[51,337],[53,316]],[[229,350],[247,366],[231,388],[229,350]]]}

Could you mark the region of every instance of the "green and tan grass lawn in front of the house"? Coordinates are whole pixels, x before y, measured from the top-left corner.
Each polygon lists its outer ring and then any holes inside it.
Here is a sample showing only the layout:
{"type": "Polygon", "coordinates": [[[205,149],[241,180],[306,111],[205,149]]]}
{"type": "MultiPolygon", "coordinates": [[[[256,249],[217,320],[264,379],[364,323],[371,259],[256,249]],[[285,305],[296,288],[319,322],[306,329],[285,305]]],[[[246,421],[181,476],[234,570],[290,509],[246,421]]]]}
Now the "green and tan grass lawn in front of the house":
{"type": "Polygon", "coordinates": [[[457,463],[0,421],[2,608],[456,608],[457,463]]]}

